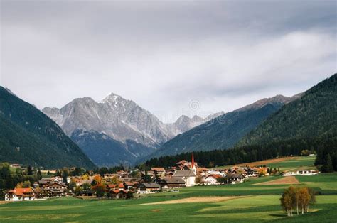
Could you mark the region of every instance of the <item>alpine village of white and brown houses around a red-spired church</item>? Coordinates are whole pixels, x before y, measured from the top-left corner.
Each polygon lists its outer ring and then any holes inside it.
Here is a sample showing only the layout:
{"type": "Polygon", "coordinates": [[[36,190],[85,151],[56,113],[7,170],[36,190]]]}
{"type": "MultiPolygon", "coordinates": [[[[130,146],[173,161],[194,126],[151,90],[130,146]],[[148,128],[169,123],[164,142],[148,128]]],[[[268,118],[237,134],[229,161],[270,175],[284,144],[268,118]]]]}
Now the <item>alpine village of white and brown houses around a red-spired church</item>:
{"type": "MultiPolygon", "coordinates": [[[[18,168],[19,165],[12,165],[18,168]]],[[[53,171],[53,170],[51,170],[53,171]]],[[[49,172],[49,170],[48,170],[49,172]]],[[[55,171],[53,171],[55,172],[55,171]]],[[[131,199],[134,195],[157,192],[179,192],[181,187],[198,185],[226,185],[244,183],[247,178],[257,178],[279,173],[267,166],[232,166],[231,168],[203,168],[191,161],[179,161],[171,168],[154,167],[150,170],[118,170],[116,173],[85,173],[70,177],[41,178],[33,186],[15,187],[5,194],[6,201],[46,200],[51,197],[74,196],[78,198],[102,197],[131,199]]],[[[282,173],[291,175],[316,175],[316,170],[299,170],[282,173]]]]}

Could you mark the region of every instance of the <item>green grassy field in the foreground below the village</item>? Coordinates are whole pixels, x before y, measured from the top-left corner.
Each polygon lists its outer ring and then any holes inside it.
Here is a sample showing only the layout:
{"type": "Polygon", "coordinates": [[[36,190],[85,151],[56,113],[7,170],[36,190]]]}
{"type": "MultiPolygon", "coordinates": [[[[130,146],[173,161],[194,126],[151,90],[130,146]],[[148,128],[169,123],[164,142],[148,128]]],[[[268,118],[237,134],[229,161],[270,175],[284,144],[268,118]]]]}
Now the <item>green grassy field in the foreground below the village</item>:
{"type": "MultiPolygon", "coordinates": [[[[294,163],[285,165],[294,167],[294,163]]],[[[337,173],[296,176],[299,186],[314,187],[321,195],[309,207],[310,213],[291,218],[279,205],[279,198],[289,185],[256,185],[280,178],[268,176],[237,185],[187,187],[180,192],[144,195],[134,200],[63,197],[11,202],[0,205],[0,222],[336,222],[337,173]],[[219,201],[219,197],[223,199],[219,201]],[[186,199],[192,200],[179,203],[186,199]],[[171,203],[158,203],[164,201],[171,203]]]]}

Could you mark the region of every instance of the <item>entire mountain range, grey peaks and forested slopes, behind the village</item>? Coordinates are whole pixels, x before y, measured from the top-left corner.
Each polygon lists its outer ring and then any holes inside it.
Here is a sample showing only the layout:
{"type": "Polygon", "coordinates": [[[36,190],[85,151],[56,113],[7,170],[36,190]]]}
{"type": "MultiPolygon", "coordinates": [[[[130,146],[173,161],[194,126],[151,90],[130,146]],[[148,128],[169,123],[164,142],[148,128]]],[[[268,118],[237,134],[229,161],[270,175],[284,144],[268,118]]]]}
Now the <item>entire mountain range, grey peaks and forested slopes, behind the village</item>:
{"type": "Polygon", "coordinates": [[[335,74],[294,97],[277,95],[206,118],[181,116],[171,124],[113,93],[100,102],[78,98],[41,112],[0,87],[0,161],[94,168],[191,151],[333,138],[336,80],[335,74]]]}

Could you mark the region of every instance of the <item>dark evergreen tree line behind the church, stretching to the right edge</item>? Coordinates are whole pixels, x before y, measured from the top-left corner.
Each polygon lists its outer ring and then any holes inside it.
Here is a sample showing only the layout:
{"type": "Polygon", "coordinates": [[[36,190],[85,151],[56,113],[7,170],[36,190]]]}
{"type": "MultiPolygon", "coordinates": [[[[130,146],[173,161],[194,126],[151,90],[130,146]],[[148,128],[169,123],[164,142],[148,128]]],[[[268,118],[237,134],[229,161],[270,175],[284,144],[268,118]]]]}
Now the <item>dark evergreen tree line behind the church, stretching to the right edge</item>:
{"type": "MultiPolygon", "coordinates": [[[[195,151],[194,159],[198,165],[212,168],[222,165],[235,165],[237,163],[250,163],[263,161],[271,158],[283,156],[301,156],[304,150],[316,151],[316,165],[319,165],[323,172],[337,170],[337,137],[335,138],[301,138],[291,139],[269,144],[240,146],[237,148],[195,151]],[[330,156],[330,158],[329,158],[330,156]]],[[[180,153],[173,156],[161,156],[151,158],[143,165],[146,167],[162,166],[169,168],[181,160],[190,160],[190,153],[180,153]]],[[[141,165],[139,165],[141,166],[141,165]]]]}

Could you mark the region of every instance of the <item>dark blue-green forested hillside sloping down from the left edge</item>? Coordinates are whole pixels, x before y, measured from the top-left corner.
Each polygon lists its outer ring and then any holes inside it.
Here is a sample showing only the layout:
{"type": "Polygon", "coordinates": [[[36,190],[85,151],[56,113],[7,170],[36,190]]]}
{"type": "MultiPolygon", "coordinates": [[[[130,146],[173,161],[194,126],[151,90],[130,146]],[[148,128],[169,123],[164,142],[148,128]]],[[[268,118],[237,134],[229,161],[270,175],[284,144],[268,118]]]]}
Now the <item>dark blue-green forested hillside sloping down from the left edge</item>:
{"type": "Polygon", "coordinates": [[[0,126],[0,161],[46,168],[95,167],[54,121],[4,87],[0,126]]]}

